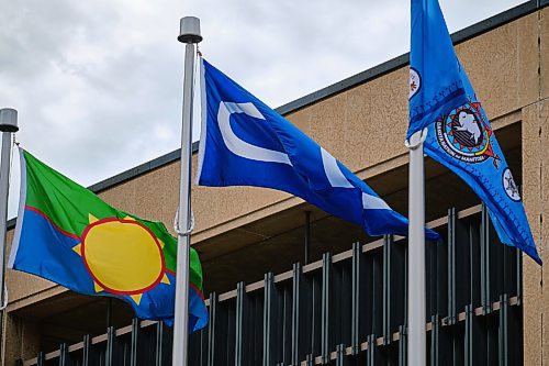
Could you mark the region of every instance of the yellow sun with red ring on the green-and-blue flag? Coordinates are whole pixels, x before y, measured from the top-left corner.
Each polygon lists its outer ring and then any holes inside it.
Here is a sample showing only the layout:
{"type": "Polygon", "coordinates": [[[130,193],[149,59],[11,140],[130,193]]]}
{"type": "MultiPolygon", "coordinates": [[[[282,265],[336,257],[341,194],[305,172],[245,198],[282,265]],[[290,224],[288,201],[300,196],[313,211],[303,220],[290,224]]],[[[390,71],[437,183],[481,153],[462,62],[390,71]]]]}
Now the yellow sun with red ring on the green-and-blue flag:
{"type": "Polygon", "coordinates": [[[93,278],[96,292],[127,295],[139,304],[144,292],[158,284],[170,284],[166,276],[164,243],[131,217],[98,220],[89,214],[78,253],[93,278]]]}

